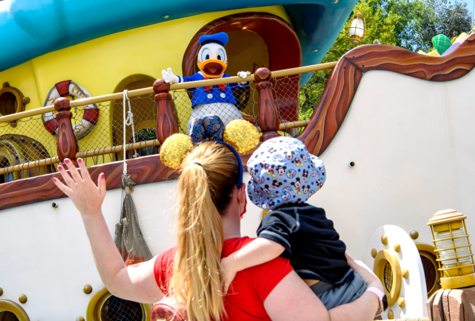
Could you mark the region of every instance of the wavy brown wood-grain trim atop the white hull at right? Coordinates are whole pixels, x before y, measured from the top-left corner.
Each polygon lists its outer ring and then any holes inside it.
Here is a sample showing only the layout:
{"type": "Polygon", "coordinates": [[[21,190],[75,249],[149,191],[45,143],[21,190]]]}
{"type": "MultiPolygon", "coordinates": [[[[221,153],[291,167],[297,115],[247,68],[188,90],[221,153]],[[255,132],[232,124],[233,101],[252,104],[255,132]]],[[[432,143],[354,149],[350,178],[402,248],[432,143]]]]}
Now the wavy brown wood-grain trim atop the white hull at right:
{"type": "Polygon", "coordinates": [[[467,75],[474,67],[475,34],[455,43],[440,57],[385,44],[356,47],[338,60],[309,124],[298,138],[310,153],[321,155],[343,123],[366,72],[391,71],[423,80],[449,81],[467,75]]]}

